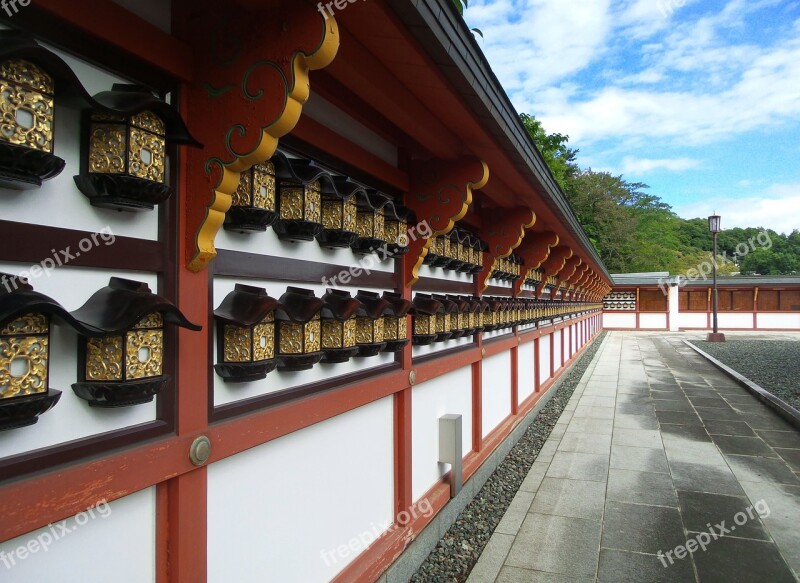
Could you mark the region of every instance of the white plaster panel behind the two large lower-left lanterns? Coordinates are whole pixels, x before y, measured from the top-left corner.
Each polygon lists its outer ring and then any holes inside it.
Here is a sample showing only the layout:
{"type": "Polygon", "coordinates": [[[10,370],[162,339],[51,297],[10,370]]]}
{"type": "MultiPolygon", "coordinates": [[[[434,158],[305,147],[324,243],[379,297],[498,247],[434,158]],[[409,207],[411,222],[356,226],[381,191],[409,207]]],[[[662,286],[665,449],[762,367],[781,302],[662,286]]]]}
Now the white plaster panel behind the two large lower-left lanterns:
{"type": "MultiPolygon", "coordinates": [[[[18,263],[0,262],[0,272],[18,273],[21,269],[28,268],[29,266],[18,263]]],[[[158,281],[153,274],[101,272],[67,267],[54,270],[50,277],[32,279],[30,283],[36,291],[50,296],[72,311],[81,307],[95,291],[108,285],[112,276],[143,281],[153,291],[158,290],[158,281]]],[[[78,335],[69,326],[56,324],[51,327],[50,337],[50,388],[62,392],[61,400],[50,411],[41,415],[35,425],[6,432],[6,439],[0,439],[0,458],[154,421],[157,418],[155,400],[152,403],[119,409],[90,407],[89,403],[78,398],[72,391],[72,384],[78,380],[77,375],[78,335]]]]}

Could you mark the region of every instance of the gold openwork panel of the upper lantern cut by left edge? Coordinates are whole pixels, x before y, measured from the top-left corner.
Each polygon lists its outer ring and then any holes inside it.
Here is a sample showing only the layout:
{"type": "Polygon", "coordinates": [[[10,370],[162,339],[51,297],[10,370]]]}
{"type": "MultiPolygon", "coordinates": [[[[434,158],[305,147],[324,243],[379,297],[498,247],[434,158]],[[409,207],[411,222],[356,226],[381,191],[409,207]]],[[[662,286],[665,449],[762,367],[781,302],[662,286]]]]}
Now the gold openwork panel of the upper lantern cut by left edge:
{"type": "Polygon", "coordinates": [[[55,85],[22,59],[0,65],[0,141],[52,154],[55,85]]]}

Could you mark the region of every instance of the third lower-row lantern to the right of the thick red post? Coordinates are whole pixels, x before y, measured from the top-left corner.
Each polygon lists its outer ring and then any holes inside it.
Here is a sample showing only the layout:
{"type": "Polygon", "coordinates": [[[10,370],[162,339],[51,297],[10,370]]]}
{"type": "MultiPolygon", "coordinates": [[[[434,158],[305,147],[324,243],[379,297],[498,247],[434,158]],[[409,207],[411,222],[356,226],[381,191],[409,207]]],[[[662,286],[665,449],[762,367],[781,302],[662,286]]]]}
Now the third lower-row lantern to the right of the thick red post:
{"type": "Polygon", "coordinates": [[[356,312],[361,302],[349,293],[329,289],[322,296],[322,362],[334,364],[347,362],[358,354],[356,344],[356,312]]]}

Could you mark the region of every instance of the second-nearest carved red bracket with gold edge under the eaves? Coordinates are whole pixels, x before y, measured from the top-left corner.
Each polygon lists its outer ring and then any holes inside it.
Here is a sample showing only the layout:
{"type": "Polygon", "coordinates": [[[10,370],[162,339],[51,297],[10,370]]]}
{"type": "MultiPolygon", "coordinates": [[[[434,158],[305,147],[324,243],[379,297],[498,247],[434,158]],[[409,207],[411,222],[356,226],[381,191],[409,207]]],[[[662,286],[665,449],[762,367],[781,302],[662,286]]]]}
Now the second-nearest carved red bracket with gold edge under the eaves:
{"type": "Polygon", "coordinates": [[[406,206],[414,211],[420,224],[427,223],[429,238],[411,238],[409,252],[403,257],[403,281],[413,286],[433,237],[449,233],[464,218],[472,191],[486,186],[489,167],[473,157],[458,160],[429,160],[411,165],[411,191],[406,206]]]}

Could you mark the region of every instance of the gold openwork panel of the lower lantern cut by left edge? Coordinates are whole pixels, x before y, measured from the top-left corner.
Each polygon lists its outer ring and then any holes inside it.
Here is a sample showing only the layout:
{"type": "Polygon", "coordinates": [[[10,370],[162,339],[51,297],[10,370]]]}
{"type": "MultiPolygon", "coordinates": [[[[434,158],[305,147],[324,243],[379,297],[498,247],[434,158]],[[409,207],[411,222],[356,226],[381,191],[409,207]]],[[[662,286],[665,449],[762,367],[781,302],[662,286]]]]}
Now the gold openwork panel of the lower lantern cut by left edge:
{"type": "Polygon", "coordinates": [[[50,322],[26,314],[0,328],[0,400],[47,393],[50,322]]]}

